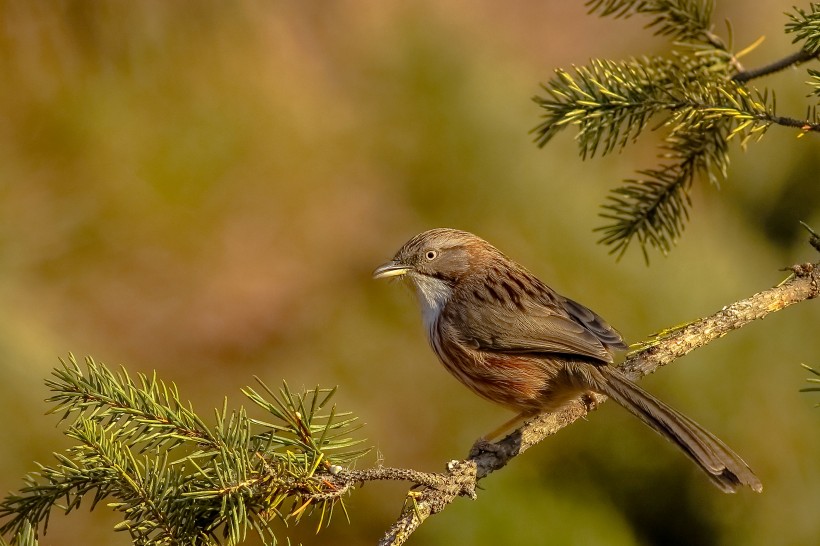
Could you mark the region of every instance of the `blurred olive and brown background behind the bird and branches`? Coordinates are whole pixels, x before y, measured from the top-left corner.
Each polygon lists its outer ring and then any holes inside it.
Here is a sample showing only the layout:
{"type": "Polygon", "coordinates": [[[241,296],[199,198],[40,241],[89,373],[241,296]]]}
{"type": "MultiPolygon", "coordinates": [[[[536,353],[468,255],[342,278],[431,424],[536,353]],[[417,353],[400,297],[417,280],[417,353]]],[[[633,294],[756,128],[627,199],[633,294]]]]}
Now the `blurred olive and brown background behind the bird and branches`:
{"type": "MultiPolygon", "coordinates": [[[[794,51],[790,1],[721,1],[759,66],[794,51]]],[[[804,3],[803,7],[808,8],[804,3]]],[[[415,233],[474,231],[630,342],[778,283],[816,260],[820,145],[774,127],[695,188],[674,252],[644,265],[595,244],[599,205],[655,165],[657,135],[581,162],[545,149],[530,100],[557,67],[664,54],[647,19],[582,2],[0,3],[0,488],[68,442],[45,416],[57,358],[157,370],[202,415],[259,375],[339,385],[367,423],[361,466],[440,471],[509,417],[427,347],[412,295],[370,279],[415,233]]],[[[800,117],[804,68],[759,82],[800,117]]],[[[428,520],[414,544],[802,545],[820,536],[820,366],[804,303],[687,356],[644,385],[736,449],[764,492],[723,495],[615,404],[428,520]]],[[[288,529],[374,544],[405,484],[369,484],[351,522],[288,529]]],[[[43,544],[124,545],[104,506],[55,513],[43,544]]],[[[284,535],[282,535],[284,537],[284,535]]]]}

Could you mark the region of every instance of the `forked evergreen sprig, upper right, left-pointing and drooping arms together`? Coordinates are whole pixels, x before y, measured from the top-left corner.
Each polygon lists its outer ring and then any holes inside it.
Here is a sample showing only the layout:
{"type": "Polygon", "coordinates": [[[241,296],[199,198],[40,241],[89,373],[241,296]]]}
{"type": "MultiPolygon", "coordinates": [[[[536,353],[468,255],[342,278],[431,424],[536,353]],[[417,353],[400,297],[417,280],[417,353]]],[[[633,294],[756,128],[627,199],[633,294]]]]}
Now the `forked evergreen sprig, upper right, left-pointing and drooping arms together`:
{"type": "Polygon", "coordinates": [[[745,145],[760,138],[777,118],[774,98],[716,78],[700,57],[642,58],[625,62],[594,60],[574,74],[559,70],[543,86],[536,103],[546,120],[536,127],[545,145],[569,125],[578,126],[582,158],[621,149],[634,141],[658,115],[669,129],[661,159],[612,191],[602,216],[610,220],[598,231],[601,242],[623,254],[637,239],[648,259],[647,245],[667,253],[688,219],[689,190],[698,175],[718,183],[729,164],[727,141],[745,145]]]}

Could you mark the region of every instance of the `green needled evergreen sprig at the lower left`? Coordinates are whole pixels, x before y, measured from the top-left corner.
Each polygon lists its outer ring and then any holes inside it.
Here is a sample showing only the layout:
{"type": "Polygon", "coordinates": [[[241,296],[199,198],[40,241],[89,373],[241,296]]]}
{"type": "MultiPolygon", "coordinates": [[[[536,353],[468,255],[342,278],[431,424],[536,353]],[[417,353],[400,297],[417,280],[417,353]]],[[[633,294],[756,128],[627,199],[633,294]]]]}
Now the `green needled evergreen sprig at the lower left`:
{"type": "Polygon", "coordinates": [[[344,508],[323,476],[368,451],[351,437],[356,419],[329,405],[335,389],[274,392],[258,380],[263,393],[243,392],[268,419],[226,400],[208,425],[156,374],[135,380],[90,358],[83,370],[72,356],[53,376],[52,412],[77,444],[0,502],[0,532],[18,544],[32,528],[47,531],[53,506],[68,513],[88,498],[91,509],[106,500],[122,512],[115,529],[135,544],[238,544],[250,530],[273,544],[273,521],[317,511],[321,526],[344,508]]]}

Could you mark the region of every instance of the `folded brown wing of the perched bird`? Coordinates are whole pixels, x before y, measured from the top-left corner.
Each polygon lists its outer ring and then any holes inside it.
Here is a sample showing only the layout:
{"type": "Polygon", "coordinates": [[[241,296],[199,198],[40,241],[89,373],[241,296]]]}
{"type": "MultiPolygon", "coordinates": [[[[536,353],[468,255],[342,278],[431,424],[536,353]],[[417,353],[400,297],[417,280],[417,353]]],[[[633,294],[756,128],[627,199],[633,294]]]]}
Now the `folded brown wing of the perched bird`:
{"type": "Polygon", "coordinates": [[[610,350],[626,348],[595,312],[543,288],[514,299],[511,292],[491,290],[481,305],[463,306],[452,319],[462,325],[465,341],[483,351],[574,354],[612,362],[610,350]]]}

